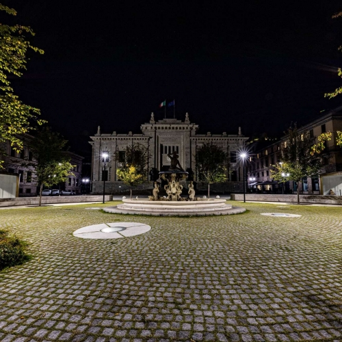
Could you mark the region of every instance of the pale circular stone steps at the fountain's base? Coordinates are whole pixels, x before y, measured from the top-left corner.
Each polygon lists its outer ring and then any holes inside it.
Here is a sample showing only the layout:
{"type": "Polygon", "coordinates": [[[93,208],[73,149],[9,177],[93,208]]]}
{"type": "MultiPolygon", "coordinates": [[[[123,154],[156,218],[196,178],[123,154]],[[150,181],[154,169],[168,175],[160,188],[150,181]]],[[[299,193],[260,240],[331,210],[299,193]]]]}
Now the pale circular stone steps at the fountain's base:
{"type": "Polygon", "coordinates": [[[123,213],[131,215],[155,216],[205,216],[205,215],[231,215],[243,213],[245,208],[226,205],[226,200],[207,199],[198,201],[151,201],[140,199],[122,200],[122,205],[107,207],[107,213],[123,213]]]}

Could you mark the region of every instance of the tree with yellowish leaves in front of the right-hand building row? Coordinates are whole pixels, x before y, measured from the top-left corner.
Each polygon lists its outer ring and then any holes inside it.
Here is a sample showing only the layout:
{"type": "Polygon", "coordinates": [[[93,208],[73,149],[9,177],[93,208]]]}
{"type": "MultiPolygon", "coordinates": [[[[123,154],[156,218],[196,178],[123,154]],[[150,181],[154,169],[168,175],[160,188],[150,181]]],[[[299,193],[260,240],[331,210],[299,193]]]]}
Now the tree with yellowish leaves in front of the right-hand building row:
{"type": "Polygon", "coordinates": [[[297,127],[290,127],[287,131],[287,140],[282,144],[280,163],[271,170],[275,181],[295,181],[297,183],[297,203],[300,203],[299,185],[304,177],[318,174],[323,167],[321,153],[326,141],[331,139],[330,132],[322,133],[317,144],[308,131],[299,132],[297,127]]]}

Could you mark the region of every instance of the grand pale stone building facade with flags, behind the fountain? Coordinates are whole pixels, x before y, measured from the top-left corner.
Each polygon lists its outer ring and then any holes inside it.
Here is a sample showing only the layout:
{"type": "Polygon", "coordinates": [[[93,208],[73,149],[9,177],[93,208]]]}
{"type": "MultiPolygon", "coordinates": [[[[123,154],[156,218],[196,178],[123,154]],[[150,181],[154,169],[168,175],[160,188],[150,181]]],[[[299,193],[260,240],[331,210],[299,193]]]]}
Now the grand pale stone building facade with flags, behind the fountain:
{"type": "Polygon", "coordinates": [[[151,183],[148,184],[150,169],[168,170],[170,166],[168,153],[174,151],[179,155],[183,169],[191,168],[194,171],[195,181],[198,181],[196,150],[205,143],[221,146],[227,152],[229,157],[226,166],[226,183],[242,181],[242,168],[237,153],[244,147],[248,137],[241,134],[241,129],[237,135],[228,135],[226,132],[222,134],[211,134],[211,132],[198,134],[198,128],[198,124],[190,122],[188,114],[185,114],[184,121],[176,118],[155,121],[153,113],[150,116],[150,121],[141,125],[142,133],[140,134],[133,134],[132,132],[118,134],[116,131],[101,133],[100,127],[98,127],[97,133],[90,137],[90,144],[92,145],[92,193],[103,192],[104,177],[107,194],[119,194],[121,189],[124,189],[123,183],[118,181],[116,170],[122,166],[124,150],[131,144],[142,144],[148,148],[145,187],[151,187],[151,183]],[[109,155],[109,161],[105,166],[106,170],[104,170],[101,157],[104,152],[109,155]]]}

